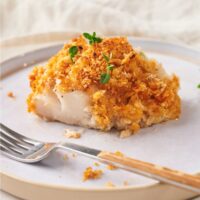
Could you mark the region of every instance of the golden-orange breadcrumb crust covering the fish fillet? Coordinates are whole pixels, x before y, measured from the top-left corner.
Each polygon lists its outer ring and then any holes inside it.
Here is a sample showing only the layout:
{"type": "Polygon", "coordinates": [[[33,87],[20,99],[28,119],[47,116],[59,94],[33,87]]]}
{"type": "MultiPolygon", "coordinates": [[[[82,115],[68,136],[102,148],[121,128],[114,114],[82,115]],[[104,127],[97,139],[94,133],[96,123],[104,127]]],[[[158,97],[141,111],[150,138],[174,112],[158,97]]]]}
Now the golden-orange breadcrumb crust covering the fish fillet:
{"type": "Polygon", "coordinates": [[[35,110],[34,97],[45,90],[84,91],[90,96],[97,128],[128,130],[123,136],[180,115],[178,78],[163,75],[158,62],[133,49],[124,37],[104,38],[93,45],[83,36],[75,38],[45,66],[35,67],[29,79],[30,112],[35,110]],[[69,48],[74,45],[78,53],[72,61],[69,48]],[[103,54],[111,56],[114,65],[106,84],[100,83],[107,67],[103,54]]]}

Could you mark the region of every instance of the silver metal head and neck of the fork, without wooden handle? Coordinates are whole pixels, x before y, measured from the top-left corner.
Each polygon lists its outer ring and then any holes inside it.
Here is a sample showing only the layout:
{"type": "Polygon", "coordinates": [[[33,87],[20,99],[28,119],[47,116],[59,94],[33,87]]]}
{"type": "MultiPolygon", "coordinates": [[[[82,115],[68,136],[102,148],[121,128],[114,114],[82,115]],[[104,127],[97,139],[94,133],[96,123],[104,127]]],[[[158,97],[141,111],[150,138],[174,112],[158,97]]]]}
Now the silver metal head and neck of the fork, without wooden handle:
{"type": "Polygon", "coordinates": [[[24,163],[36,163],[46,158],[58,148],[71,150],[93,157],[99,150],[87,148],[73,143],[44,143],[25,137],[0,123],[0,148],[7,157],[24,163]]]}

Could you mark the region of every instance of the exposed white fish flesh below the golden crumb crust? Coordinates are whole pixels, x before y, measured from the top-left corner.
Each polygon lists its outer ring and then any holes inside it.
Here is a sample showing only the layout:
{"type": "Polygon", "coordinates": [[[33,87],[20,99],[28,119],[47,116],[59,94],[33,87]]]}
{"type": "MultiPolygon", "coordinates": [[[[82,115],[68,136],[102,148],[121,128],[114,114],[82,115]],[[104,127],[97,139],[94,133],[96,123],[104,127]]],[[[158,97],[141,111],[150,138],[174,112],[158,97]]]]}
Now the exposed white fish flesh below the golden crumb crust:
{"type": "Polygon", "coordinates": [[[62,94],[58,91],[48,91],[36,96],[35,105],[35,112],[47,120],[95,128],[89,97],[84,92],[73,91],[62,94]]]}

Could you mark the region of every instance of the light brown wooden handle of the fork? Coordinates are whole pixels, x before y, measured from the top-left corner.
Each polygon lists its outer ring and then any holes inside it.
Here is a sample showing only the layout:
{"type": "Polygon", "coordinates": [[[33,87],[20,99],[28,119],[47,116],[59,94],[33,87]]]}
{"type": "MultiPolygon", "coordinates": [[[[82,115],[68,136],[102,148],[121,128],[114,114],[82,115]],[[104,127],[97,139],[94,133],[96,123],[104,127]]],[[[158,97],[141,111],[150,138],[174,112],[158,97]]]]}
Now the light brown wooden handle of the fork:
{"type": "Polygon", "coordinates": [[[129,167],[130,170],[134,169],[142,175],[147,175],[159,181],[167,182],[200,194],[200,176],[187,174],[106,151],[100,152],[98,157],[103,160],[111,161],[112,163],[118,163],[122,166],[129,167]]]}

